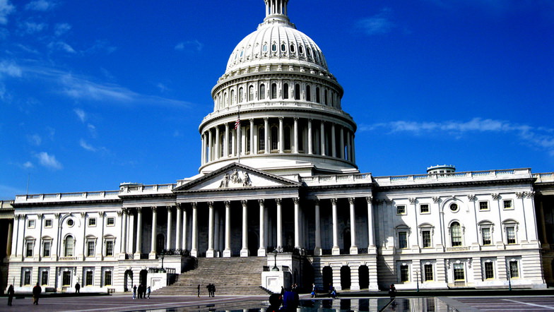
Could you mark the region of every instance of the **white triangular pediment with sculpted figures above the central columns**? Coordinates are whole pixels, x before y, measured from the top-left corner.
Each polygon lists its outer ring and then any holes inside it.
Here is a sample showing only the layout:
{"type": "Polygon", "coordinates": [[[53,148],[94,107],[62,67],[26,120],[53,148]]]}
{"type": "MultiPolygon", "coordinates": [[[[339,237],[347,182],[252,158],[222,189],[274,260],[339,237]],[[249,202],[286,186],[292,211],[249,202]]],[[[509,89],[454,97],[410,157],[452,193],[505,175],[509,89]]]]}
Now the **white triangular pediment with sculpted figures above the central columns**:
{"type": "Polygon", "coordinates": [[[225,191],[244,188],[287,188],[301,186],[300,182],[262,172],[237,162],[189,181],[173,189],[174,193],[189,191],[225,191]]]}

